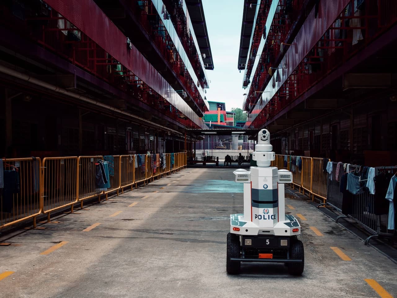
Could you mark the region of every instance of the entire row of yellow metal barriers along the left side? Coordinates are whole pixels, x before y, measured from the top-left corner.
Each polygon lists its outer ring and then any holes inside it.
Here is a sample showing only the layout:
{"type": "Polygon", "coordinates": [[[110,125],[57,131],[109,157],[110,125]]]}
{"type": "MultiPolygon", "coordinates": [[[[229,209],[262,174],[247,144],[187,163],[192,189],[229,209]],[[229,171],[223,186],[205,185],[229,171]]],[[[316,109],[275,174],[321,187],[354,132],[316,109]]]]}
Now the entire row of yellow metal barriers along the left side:
{"type": "MultiPolygon", "coordinates": [[[[106,157],[108,165],[108,185],[104,189],[96,185],[96,164],[103,160],[102,155],[80,157],[46,157],[2,159],[4,188],[0,191],[0,229],[16,223],[50,214],[56,210],[93,198],[101,200],[101,195],[123,192],[124,188],[138,183],[148,183],[154,177],[161,178],[172,171],[187,166],[187,153],[175,153],[171,166],[171,154],[165,155],[165,167],[157,166],[153,173],[151,158],[144,154],[139,162],[138,155],[114,155],[106,157]],[[109,161],[110,159],[110,161],[109,161]]],[[[105,162],[106,163],[106,162],[105,162]]],[[[157,164],[156,164],[157,165],[157,164]]],[[[105,171],[106,172],[106,171],[105,171]]]]}

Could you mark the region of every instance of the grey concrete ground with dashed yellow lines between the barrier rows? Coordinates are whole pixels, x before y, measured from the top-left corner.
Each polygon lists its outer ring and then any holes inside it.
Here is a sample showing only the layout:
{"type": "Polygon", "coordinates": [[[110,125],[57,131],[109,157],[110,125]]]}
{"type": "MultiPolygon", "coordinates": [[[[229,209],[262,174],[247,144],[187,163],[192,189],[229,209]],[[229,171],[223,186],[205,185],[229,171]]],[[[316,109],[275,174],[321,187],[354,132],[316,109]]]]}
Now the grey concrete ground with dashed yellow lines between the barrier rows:
{"type": "Polygon", "coordinates": [[[303,276],[254,263],[227,275],[229,214],[243,212],[233,180],[230,168],[188,168],[2,235],[0,296],[397,297],[397,265],[301,199],[285,208],[302,225],[303,276]]]}

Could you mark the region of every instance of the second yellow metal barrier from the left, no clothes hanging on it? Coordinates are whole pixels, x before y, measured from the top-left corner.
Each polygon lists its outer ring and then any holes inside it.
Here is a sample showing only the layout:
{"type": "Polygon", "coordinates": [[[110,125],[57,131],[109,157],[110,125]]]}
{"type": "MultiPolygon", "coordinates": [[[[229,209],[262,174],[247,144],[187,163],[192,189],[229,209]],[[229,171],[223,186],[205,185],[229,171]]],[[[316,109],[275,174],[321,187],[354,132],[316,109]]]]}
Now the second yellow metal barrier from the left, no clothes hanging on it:
{"type": "Polygon", "coordinates": [[[77,157],[46,157],[42,166],[43,213],[72,206],[77,202],[77,157]]]}

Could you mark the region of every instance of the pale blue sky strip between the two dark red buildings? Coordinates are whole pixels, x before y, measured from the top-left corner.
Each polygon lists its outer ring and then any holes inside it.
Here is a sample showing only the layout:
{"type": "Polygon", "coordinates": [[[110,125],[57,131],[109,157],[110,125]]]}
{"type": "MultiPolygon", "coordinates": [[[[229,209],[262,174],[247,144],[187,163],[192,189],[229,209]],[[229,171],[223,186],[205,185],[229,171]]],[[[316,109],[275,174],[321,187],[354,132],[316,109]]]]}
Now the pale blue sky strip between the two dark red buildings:
{"type": "Polygon", "coordinates": [[[244,0],[202,0],[214,61],[214,70],[207,70],[206,98],[224,102],[227,111],[243,106],[244,71],[237,69],[243,5],[244,0]]]}

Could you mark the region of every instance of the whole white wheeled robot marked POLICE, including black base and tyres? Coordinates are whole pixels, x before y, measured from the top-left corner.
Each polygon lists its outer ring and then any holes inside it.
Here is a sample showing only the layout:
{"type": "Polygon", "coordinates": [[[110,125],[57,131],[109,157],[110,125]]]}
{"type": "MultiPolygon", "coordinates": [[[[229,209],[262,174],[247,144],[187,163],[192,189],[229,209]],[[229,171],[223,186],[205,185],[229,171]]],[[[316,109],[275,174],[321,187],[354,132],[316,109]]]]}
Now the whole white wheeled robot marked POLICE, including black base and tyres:
{"type": "Polygon", "coordinates": [[[233,172],[235,181],[244,183],[244,213],[230,215],[229,274],[238,274],[241,262],[284,263],[292,275],[303,272],[303,243],[297,238],[301,226],[294,216],[285,214],[284,183],[292,183],[292,173],[270,166],[275,159],[272,150],[270,133],[260,130],[252,153],[257,166],[233,172]]]}

